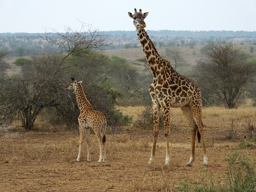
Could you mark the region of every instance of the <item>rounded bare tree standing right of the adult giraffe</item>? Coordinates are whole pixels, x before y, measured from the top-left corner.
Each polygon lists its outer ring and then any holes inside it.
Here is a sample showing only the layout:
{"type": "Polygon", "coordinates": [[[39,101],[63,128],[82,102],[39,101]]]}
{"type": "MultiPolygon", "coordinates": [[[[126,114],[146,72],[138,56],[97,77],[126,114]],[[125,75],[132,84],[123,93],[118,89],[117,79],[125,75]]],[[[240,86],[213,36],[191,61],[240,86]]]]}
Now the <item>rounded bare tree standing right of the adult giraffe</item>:
{"type": "Polygon", "coordinates": [[[194,75],[203,98],[210,104],[237,108],[256,75],[255,66],[248,62],[250,56],[229,42],[210,42],[202,54],[206,57],[197,61],[194,75]]]}

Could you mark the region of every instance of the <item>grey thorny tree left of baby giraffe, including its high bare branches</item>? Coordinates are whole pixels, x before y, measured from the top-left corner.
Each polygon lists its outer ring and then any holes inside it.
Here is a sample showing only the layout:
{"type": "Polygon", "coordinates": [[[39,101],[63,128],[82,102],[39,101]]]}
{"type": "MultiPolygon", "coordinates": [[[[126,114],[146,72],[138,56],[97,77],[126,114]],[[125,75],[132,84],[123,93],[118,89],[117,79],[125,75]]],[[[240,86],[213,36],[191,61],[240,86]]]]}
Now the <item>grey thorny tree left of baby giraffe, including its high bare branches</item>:
{"type": "Polygon", "coordinates": [[[108,45],[105,36],[89,26],[80,31],[66,29],[66,33],[45,33],[42,37],[50,50],[41,56],[32,56],[22,64],[22,73],[0,79],[0,122],[12,122],[19,118],[26,130],[45,108],[65,102],[64,86],[70,78],[66,73],[73,66],[72,59],[80,55],[93,57],[92,50],[108,45]]]}

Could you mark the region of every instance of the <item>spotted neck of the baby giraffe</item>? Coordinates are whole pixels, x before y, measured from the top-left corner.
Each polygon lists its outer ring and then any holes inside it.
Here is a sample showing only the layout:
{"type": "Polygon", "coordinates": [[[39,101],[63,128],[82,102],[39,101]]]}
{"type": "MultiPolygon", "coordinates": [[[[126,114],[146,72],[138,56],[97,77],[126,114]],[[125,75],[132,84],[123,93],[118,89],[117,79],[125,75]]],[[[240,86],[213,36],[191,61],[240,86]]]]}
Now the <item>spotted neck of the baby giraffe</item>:
{"type": "Polygon", "coordinates": [[[77,102],[78,108],[80,109],[80,112],[82,110],[91,109],[92,105],[87,100],[84,94],[84,89],[80,82],[77,83],[75,92],[76,92],[76,102],[77,102]]]}

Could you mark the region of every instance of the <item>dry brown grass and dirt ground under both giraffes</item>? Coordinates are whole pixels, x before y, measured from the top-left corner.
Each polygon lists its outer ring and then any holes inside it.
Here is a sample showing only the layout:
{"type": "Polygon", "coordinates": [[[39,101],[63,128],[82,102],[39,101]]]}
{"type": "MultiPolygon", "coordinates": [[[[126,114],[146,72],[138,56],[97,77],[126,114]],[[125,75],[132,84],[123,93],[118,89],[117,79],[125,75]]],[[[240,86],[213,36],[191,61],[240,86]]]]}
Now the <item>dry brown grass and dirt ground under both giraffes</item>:
{"type": "MultiPolygon", "coordinates": [[[[144,107],[118,107],[123,114],[140,118],[144,107]]],[[[182,181],[196,185],[218,180],[227,185],[228,153],[247,154],[255,164],[256,143],[248,138],[249,126],[255,126],[256,108],[238,109],[210,107],[203,109],[208,168],[203,168],[203,154],[196,143],[195,161],[190,158],[190,132],[180,109],[172,109],[170,134],[171,161],[164,166],[165,137],[158,134],[155,161],[148,166],[152,146],[152,125],[139,128],[130,124],[106,133],[107,162],[98,163],[98,142],[91,134],[92,161],[86,161],[86,146],[82,159],[78,154],[78,131],[51,127],[37,121],[38,130],[24,132],[19,128],[0,131],[0,191],[47,192],[107,192],[107,191],[180,191],[182,181]]]]}

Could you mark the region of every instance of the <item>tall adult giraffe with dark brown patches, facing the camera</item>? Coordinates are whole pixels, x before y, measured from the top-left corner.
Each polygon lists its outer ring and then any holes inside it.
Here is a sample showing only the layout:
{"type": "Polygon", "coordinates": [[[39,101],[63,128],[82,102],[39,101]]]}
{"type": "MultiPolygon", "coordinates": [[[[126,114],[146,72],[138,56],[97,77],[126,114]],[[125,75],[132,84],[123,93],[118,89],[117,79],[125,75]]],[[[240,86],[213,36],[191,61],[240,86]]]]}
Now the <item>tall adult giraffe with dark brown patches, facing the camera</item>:
{"type": "Polygon", "coordinates": [[[203,166],[208,166],[208,158],[204,141],[204,126],[202,123],[202,97],[201,91],[196,83],[180,75],[176,72],[170,62],[162,58],[150,40],[148,34],[144,30],[146,23],[144,18],[148,12],[137,12],[132,14],[128,12],[130,18],[133,19],[133,24],[136,27],[136,32],[140,40],[142,49],[145,53],[146,60],[153,74],[153,82],[150,85],[149,92],[152,99],[152,108],[154,112],[153,119],[153,144],[151,156],[148,164],[154,160],[156,150],[156,140],[158,136],[160,108],[164,115],[164,135],[166,136],[166,159],[167,165],[170,161],[169,156],[169,137],[170,137],[170,108],[181,108],[184,116],[188,120],[191,133],[191,154],[190,160],[186,166],[192,166],[195,158],[195,138],[196,132],[198,142],[202,139],[202,148],[204,152],[203,166]]]}

